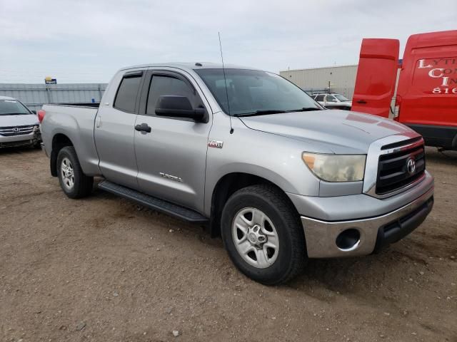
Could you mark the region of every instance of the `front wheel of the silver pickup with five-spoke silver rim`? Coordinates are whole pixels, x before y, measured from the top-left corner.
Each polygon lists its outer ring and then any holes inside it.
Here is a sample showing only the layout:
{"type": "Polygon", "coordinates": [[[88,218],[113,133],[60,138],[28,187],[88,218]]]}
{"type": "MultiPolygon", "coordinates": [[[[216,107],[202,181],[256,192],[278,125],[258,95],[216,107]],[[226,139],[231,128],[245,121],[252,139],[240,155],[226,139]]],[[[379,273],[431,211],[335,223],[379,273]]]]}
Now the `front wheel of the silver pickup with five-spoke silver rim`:
{"type": "Polygon", "coordinates": [[[293,279],[308,259],[300,217],[286,195],[271,185],[253,185],[231,195],[222,211],[221,235],[233,264],[261,284],[293,279]]]}

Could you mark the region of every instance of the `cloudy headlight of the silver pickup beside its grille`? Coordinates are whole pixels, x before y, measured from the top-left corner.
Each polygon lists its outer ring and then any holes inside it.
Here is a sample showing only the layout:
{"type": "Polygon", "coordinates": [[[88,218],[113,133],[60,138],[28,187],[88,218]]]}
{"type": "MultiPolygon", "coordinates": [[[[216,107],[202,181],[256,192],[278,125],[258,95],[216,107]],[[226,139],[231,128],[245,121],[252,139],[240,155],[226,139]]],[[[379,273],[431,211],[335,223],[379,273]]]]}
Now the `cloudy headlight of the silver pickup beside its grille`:
{"type": "Polygon", "coordinates": [[[363,180],[366,155],[321,155],[303,152],[303,162],[314,175],[327,182],[363,180]]]}

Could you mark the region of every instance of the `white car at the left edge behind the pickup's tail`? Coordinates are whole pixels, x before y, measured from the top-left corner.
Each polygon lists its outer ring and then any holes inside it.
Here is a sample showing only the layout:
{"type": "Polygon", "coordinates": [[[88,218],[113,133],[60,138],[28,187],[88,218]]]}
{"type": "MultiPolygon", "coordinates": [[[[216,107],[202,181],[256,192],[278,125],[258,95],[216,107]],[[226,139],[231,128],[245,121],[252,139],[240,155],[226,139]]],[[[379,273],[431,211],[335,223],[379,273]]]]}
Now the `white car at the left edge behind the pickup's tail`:
{"type": "Polygon", "coordinates": [[[0,96],[0,147],[40,148],[39,120],[21,101],[0,96]]]}

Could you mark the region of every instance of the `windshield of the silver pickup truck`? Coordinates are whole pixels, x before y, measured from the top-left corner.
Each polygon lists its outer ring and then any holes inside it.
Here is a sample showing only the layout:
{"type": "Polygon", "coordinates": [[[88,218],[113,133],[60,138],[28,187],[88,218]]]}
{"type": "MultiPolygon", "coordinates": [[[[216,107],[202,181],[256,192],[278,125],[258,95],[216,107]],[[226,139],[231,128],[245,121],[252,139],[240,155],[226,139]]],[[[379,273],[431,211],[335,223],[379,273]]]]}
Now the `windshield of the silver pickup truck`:
{"type": "Polygon", "coordinates": [[[307,93],[275,73],[244,69],[225,72],[226,80],[220,68],[196,70],[224,112],[230,115],[322,109],[307,93]]]}

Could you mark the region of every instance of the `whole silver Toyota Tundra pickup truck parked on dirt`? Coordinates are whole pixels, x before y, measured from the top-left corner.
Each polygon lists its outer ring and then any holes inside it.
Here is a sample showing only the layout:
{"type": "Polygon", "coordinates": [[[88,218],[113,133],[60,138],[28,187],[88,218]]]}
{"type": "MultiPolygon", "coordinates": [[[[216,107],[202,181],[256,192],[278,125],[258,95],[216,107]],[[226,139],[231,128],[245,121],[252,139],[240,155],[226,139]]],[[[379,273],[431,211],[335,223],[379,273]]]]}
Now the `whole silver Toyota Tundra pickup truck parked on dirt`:
{"type": "Polygon", "coordinates": [[[212,63],[123,68],[99,108],[44,105],[51,175],[71,198],[102,190],[221,236],[263,284],[308,258],[377,252],[433,207],[420,135],[325,110],[266,71],[212,63]]]}

